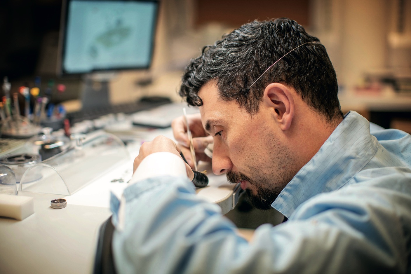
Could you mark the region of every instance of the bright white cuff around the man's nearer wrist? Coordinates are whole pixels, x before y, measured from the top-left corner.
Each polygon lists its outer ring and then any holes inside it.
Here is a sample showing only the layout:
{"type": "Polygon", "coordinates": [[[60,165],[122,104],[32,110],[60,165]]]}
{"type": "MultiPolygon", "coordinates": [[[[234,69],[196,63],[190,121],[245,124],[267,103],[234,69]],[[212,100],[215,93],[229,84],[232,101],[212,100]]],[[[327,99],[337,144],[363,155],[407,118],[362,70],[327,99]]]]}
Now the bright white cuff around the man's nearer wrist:
{"type": "Polygon", "coordinates": [[[155,176],[187,176],[185,163],[181,157],[171,152],[155,152],[141,161],[134,172],[130,184],[155,176]]]}

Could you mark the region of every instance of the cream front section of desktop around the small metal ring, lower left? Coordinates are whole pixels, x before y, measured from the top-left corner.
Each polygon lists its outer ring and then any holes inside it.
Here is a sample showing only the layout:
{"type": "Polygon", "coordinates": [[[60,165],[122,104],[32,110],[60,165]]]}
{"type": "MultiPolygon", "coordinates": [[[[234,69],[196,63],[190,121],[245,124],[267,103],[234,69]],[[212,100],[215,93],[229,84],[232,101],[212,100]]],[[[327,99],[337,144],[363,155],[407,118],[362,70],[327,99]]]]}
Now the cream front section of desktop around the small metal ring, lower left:
{"type": "Polygon", "coordinates": [[[99,226],[106,207],[67,204],[53,209],[52,194],[34,198],[35,213],[23,221],[0,218],[0,273],[92,273],[99,226]]]}

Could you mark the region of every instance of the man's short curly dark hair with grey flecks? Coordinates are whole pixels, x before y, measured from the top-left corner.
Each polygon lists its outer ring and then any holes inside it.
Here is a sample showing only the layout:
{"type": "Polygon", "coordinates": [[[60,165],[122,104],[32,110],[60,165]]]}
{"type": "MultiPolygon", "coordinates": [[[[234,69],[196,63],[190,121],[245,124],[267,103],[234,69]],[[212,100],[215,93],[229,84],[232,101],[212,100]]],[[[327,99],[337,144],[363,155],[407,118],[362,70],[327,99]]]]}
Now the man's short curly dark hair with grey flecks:
{"type": "Polygon", "coordinates": [[[259,111],[269,83],[285,83],[294,87],[305,103],[328,121],[342,116],[337,76],[326,48],[289,18],[253,21],[224,35],[214,45],[205,46],[201,56],[187,65],[179,94],[186,97],[188,104],[201,106],[198,92],[212,79],[217,81],[221,99],[236,100],[250,115],[259,111]],[[290,52],[307,42],[313,43],[290,52]],[[250,88],[286,53],[289,54],[250,88]]]}

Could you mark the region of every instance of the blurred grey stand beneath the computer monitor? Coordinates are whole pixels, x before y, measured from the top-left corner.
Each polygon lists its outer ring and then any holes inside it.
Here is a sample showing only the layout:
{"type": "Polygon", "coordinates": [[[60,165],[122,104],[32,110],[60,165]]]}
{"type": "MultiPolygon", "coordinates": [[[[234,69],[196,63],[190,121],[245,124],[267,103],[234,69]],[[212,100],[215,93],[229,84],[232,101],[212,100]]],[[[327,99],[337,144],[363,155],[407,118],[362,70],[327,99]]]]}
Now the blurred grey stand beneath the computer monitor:
{"type": "Polygon", "coordinates": [[[114,73],[86,74],[83,76],[82,111],[110,106],[109,84],[114,76],[114,73]]]}

